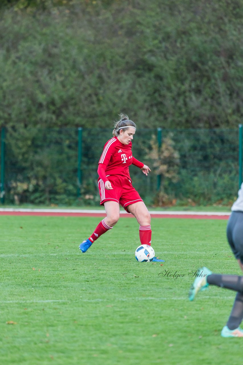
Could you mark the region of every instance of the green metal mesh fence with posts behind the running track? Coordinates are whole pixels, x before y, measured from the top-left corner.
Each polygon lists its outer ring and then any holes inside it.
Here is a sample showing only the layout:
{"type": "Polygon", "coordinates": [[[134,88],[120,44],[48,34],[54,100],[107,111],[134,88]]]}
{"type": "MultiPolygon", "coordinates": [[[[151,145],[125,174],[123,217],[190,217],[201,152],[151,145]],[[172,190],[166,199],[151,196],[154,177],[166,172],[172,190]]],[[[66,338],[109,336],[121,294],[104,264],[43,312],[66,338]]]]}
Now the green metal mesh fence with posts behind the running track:
{"type": "MultiPolygon", "coordinates": [[[[3,128],[1,203],[98,205],[97,164],[111,137],[110,128],[3,128]]],[[[146,177],[130,167],[133,184],[147,204],[231,203],[242,182],[242,126],[138,129],[133,155],[152,170],[146,177]],[[178,156],[176,178],[157,174],[151,156],[156,144],[166,165],[166,141],[178,156]]]]}

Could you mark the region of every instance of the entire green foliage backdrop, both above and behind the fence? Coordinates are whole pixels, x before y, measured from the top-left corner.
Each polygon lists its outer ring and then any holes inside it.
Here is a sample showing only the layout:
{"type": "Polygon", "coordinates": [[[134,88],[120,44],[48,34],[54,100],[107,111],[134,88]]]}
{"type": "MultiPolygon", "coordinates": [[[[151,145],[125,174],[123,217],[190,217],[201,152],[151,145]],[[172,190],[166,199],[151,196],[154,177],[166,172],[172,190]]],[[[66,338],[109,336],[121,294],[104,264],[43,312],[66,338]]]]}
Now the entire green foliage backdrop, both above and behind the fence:
{"type": "Polygon", "coordinates": [[[97,204],[99,155],[125,112],[138,126],[134,156],[154,169],[144,180],[131,167],[147,203],[230,203],[238,188],[242,20],[242,0],[2,0],[6,202],[97,204]],[[159,191],[156,171],[167,173],[159,191]]]}

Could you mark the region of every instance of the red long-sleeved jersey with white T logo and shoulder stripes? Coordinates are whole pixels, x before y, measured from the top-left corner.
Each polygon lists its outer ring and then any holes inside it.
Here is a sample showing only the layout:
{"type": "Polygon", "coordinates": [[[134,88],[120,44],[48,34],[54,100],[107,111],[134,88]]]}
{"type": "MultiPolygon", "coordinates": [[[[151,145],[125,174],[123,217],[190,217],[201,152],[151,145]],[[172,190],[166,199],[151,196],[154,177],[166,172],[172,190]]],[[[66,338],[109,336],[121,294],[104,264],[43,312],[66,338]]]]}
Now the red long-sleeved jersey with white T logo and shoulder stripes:
{"type": "Polygon", "coordinates": [[[144,166],[142,162],[133,157],[132,142],[124,145],[117,137],[113,137],[106,142],[101,158],[99,159],[99,177],[104,183],[109,180],[106,177],[107,175],[122,175],[131,179],[129,166],[132,164],[140,169],[144,166]],[[103,169],[100,169],[101,167],[104,169],[105,174],[102,173],[103,169]]]}

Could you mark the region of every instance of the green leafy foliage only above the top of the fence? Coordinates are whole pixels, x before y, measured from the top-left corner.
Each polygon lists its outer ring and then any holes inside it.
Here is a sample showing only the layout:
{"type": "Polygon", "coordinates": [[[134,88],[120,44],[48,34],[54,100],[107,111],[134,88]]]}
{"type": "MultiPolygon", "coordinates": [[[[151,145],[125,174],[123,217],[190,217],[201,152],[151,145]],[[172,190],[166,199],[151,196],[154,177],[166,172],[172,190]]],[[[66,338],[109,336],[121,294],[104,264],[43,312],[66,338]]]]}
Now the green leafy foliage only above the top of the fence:
{"type": "Polygon", "coordinates": [[[0,125],[237,127],[242,0],[1,2],[0,125]]]}

